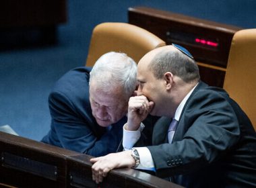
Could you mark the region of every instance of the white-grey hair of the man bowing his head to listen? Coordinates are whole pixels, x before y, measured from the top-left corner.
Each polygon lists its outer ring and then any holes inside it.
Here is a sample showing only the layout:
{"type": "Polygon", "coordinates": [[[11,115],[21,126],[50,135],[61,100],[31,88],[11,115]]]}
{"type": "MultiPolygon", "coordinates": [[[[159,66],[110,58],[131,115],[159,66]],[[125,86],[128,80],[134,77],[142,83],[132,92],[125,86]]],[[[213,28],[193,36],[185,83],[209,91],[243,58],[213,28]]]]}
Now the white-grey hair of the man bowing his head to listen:
{"type": "Polygon", "coordinates": [[[108,52],[96,61],[90,72],[90,82],[100,85],[100,90],[113,92],[123,87],[125,97],[131,97],[137,85],[137,64],[119,52],[108,52]]]}

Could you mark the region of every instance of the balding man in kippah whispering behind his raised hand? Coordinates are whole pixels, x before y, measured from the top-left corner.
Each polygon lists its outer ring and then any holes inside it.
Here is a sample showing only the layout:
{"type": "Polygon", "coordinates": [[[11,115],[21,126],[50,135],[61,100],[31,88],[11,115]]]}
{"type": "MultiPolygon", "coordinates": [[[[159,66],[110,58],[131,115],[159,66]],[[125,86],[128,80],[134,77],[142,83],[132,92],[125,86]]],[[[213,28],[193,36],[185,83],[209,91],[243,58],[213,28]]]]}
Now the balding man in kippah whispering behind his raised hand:
{"type": "Polygon", "coordinates": [[[139,60],[137,81],[125,151],[91,159],[96,183],[111,169],[133,167],[184,187],[256,187],[256,134],[249,118],[226,91],[200,81],[185,48],[173,44],[148,52],[139,60]],[[149,113],[162,116],[153,146],[133,148],[149,113]]]}

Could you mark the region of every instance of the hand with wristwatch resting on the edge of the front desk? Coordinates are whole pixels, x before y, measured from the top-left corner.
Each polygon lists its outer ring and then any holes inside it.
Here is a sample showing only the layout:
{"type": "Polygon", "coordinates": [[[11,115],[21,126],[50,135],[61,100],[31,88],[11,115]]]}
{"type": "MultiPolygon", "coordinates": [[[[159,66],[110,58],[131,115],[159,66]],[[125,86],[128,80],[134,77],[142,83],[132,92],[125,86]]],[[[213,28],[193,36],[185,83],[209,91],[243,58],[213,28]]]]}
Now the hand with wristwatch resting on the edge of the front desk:
{"type": "Polygon", "coordinates": [[[135,165],[135,160],[131,156],[131,150],[91,158],[90,162],[94,163],[92,165],[92,179],[96,183],[102,182],[103,177],[106,177],[112,169],[121,167],[131,168],[135,165]]]}

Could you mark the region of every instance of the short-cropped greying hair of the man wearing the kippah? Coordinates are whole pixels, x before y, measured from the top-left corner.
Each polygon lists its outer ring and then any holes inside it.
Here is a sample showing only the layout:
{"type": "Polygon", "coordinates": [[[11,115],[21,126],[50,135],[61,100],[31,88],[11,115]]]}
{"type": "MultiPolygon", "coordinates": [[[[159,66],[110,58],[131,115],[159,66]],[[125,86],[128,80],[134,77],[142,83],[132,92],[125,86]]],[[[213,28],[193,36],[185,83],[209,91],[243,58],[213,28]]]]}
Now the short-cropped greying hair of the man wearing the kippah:
{"type": "Polygon", "coordinates": [[[156,54],[149,68],[157,79],[162,79],[164,73],[171,72],[186,83],[199,81],[199,68],[189,56],[179,50],[164,50],[156,54]]]}

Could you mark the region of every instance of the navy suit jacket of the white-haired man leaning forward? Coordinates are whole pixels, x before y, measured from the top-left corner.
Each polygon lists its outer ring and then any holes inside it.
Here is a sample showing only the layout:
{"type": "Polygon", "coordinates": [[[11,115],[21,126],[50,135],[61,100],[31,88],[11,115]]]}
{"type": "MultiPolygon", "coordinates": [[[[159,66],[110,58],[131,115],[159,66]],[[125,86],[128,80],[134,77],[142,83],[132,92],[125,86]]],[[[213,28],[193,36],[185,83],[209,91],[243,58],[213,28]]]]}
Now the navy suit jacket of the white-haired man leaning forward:
{"type": "MultiPolygon", "coordinates": [[[[92,115],[89,100],[89,78],[91,68],[78,67],[67,72],[49,95],[51,130],[42,142],[90,154],[104,156],[110,152],[123,150],[123,125],[127,117],[102,128],[92,115]]],[[[156,118],[147,118],[143,130],[143,144],[152,144],[152,129],[156,118]]]]}

